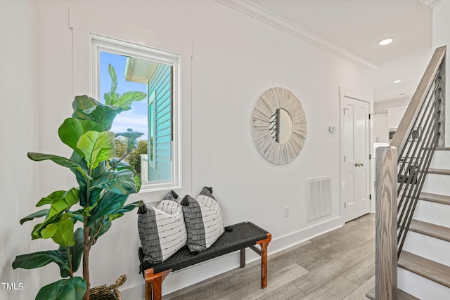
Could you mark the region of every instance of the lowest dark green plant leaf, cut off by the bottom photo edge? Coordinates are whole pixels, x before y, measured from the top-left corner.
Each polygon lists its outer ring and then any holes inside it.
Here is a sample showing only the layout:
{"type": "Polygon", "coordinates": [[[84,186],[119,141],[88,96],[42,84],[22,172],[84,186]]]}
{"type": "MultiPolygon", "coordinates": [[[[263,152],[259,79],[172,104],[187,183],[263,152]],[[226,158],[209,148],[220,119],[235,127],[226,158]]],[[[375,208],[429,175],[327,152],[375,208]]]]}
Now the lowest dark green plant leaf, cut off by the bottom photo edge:
{"type": "Polygon", "coordinates": [[[82,300],[86,289],[86,280],[81,277],[61,279],[42,287],[35,300],[82,300]]]}

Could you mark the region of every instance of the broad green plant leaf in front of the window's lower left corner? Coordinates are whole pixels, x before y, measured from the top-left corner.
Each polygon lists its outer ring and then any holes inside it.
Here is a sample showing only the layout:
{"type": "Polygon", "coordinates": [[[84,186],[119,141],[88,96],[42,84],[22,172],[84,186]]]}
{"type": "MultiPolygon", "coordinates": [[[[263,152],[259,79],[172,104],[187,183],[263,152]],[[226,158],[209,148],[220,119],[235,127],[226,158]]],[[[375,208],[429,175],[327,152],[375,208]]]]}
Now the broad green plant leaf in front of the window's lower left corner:
{"type": "Polygon", "coordinates": [[[91,190],[94,190],[95,188],[103,188],[109,192],[121,195],[137,193],[133,176],[133,172],[127,169],[120,171],[109,171],[101,176],[101,178],[95,179],[91,182],[91,190]]]}

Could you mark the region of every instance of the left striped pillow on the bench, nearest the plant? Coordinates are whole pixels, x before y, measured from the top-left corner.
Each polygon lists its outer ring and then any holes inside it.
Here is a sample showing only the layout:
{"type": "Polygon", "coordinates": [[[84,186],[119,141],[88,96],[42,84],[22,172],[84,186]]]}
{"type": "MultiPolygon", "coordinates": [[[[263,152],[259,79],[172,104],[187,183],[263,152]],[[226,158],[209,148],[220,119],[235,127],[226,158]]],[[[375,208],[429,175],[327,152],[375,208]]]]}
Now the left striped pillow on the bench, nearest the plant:
{"type": "Polygon", "coordinates": [[[145,261],[161,263],[186,244],[183,211],[176,198],[171,190],[157,207],[139,208],[138,230],[145,261]]]}

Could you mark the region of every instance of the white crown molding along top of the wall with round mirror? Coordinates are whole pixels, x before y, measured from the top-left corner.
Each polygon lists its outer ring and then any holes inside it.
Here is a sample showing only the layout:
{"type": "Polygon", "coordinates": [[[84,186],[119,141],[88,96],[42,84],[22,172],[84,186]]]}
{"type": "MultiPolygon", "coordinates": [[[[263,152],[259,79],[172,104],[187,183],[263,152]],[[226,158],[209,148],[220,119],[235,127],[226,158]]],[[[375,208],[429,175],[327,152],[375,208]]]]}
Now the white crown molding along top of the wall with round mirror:
{"type": "MultiPolygon", "coordinates": [[[[361,67],[365,67],[368,70],[376,71],[378,70],[378,65],[374,65],[373,63],[364,60],[356,54],[342,48],[327,39],[323,39],[319,35],[311,32],[290,20],[287,20],[276,13],[272,13],[268,11],[266,8],[258,6],[257,4],[252,3],[250,0],[216,0],[217,2],[229,6],[231,8],[236,9],[236,11],[240,11],[245,13],[246,15],[250,15],[251,17],[265,22],[273,27],[278,28],[278,30],[282,30],[283,32],[287,32],[288,34],[293,35],[299,39],[309,42],[315,46],[323,48],[324,50],[339,56],[340,58],[344,58],[356,65],[361,67]]],[[[432,0],[425,0],[432,1],[432,0]]],[[[440,1],[440,0],[434,0],[440,1]]]]}

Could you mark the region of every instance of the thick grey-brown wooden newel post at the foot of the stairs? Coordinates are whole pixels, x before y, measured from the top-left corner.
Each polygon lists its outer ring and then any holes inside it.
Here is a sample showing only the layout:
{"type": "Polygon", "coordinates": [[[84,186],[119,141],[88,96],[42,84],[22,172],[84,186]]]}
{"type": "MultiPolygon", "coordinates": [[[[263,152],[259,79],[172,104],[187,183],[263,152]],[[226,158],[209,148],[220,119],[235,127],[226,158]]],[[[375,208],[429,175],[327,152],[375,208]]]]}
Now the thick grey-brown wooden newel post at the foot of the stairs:
{"type": "Polygon", "coordinates": [[[397,300],[397,148],[377,148],[375,182],[375,297],[397,300]]]}

